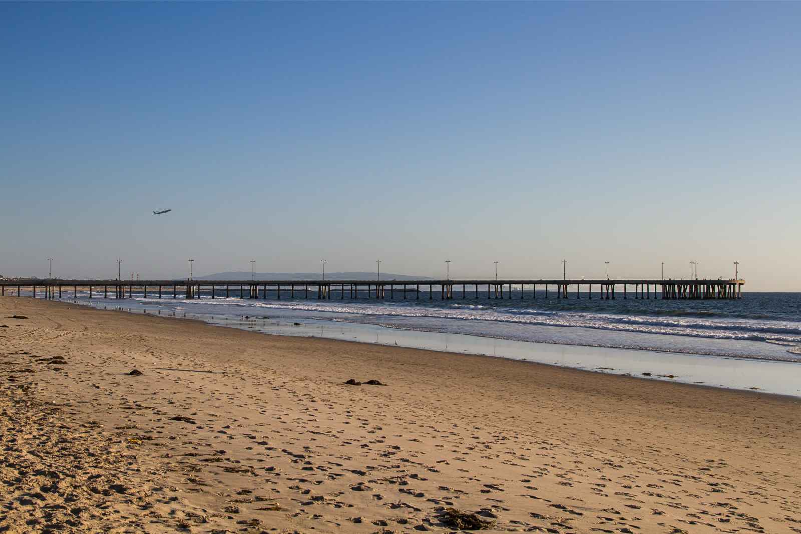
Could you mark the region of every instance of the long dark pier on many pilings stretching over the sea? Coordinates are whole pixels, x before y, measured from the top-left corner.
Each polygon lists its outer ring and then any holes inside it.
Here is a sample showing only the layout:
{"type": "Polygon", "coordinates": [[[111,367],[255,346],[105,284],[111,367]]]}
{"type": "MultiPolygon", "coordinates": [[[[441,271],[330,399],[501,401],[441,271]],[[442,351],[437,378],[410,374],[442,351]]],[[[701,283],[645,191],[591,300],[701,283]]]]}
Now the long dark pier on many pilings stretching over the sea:
{"type": "Polygon", "coordinates": [[[2,296],[33,292],[47,299],[741,299],[743,279],[554,279],[554,280],[0,280],[2,296]],[[422,290],[421,290],[422,287],[422,290]],[[426,291],[428,290],[428,291],[426,291]],[[38,291],[38,293],[37,293],[38,291]],[[468,297],[468,291],[472,295],[468,297]]]}

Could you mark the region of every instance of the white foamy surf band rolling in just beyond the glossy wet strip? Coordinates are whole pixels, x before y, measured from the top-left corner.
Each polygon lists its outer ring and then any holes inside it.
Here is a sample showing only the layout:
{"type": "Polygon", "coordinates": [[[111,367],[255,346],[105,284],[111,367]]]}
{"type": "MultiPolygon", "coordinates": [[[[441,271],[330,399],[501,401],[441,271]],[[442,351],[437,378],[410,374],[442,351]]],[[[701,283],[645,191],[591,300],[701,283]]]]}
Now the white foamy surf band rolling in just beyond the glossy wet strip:
{"type": "MultiPolygon", "coordinates": [[[[107,305],[103,299],[93,299],[91,302],[98,306],[107,305]]],[[[155,309],[162,307],[170,309],[171,307],[175,307],[175,303],[171,303],[170,299],[164,301],[155,298],[142,299],[141,295],[139,295],[139,298],[129,300],[128,303],[130,303],[131,307],[137,309],[150,307],[151,305],[155,309]]],[[[638,329],[631,330],[628,327],[617,328],[611,327],[612,325],[585,324],[586,321],[584,319],[580,319],[578,323],[560,323],[559,321],[557,321],[557,323],[551,323],[549,321],[545,323],[537,321],[531,323],[527,320],[517,321],[508,318],[498,319],[495,317],[489,317],[487,319],[472,316],[451,317],[449,315],[440,315],[441,312],[446,311],[445,308],[440,307],[432,308],[433,311],[436,311],[432,315],[429,315],[429,313],[425,311],[428,309],[428,307],[425,306],[421,308],[421,313],[414,313],[412,315],[392,311],[394,309],[394,304],[401,305],[401,308],[403,308],[403,303],[401,302],[376,303],[375,305],[377,308],[375,309],[372,308],[374,305],[373,303],[368,304],[370,309],[365,309],[364,303],[359,302],[342,303],[341,305],[336,303],[333,304],[333,308],[328,309],[325,305],[323,305],[323,307],[318,307],[318,305],[307,305],[302,301],[284,303],[283,301],[272,300],[265,301],[264,303],[256,303],[237,298],[220,298],[216,301],[208,298],[191,301],[179,300],[179,304],[200,315],[218,315],[216,311],[211,311],[212,308],[215,308],[214,305],[218,304],[222,306],[220,308],[222,315],[226,315],[228,311],[237,310],[241,307],[245,310],[242,315],[248,315],[250,311],[270,310],[271,316],[274,314],[299,314],[298,316],[301,317],[304,317],[304,314],[332,316],[335,320],[336,318],[344,318],[344,320],[352,323],[376,324],[396,329],[441,333],[448,332],[454,335],[476,335],[485,338],[507,339],[530,343],[556,343],[575,347],[609,347],[612,349],[626,348],[644,351],[664,351],[674,354],[725,355],[743,359],[766,359],[788,362],[801,361],[801,356],[799,356],[797,351],[793,350],[792,344],[789,342],[779,343],[775,342],[773,339],[763,339],[763,337],[760,336],[752,337],[751,335],[739,335],[742,334],[743,331],[751,331],[750,327],[743,324],[719,324],[716,327],[721,328],[722,331],[718,334],[710,334],[710,325],[694,326],[693,324],[688,324],[685,326],[686,328],[690,330],[694,329],[694,331],[688,332],[662,330],[641,331],[638,329]],[[341,306],[344,306],[344,308],[341,308],[341,306]],[[360,309],[352,310],[350,309],[352,306],[360,307],[360,309]],[[203,308],[208,309],[205,310],[203,308]],[[226,308],[228,309],[226,310],[226,308]],[[380,318],[380,321],[376,322],[376,320],[369,319],[371,317],[375,318],[376,314],[377,317],[380,318]],[[730,326],[731,331],[727,331],[727,328],[730,326]],[[731,334],[732,337],[725,335],[727,333],[731,334]]],[[[453,304],[453,306],[458,307],[459,305],[453,304]]],[[[557,313],[557,315],[572,316],[571,313],[565,313],[571,310],[558,310],[555,311],[555,313],[557,313]]],[[[452,310],[448,308],[448,311],[452,310]]],[[[622,311],[616,313],[614,311],[605,312],[595,310],[578,311],[577,313],[580,317],[584,315],[590,317],[590,319],[587,319],[590,320],[590,323],[594,321],[592,318],[596,316],[602,318],[626,318],[628,316],[626,312],[622,311]]],[[[637,315],[638,311],[634,311],[634,314],[637,315]]],[[[546,315],[548,314],[546,313],[546,315]]],[[[692,314],[690,313],[690,315],[692,314]]],[[[643,317],[646,319],[646,323],[649,323],[650,320],[657,320],[658,322],[667,320],[669,323],[675,320],[679,322],[702,320],[693,316],[684,317],[679,315],[671,315],[671,317],[667,319],[660,319],[658,315],[653,317],[644,315],[643,317]]],[[[603,320],[606,319],[602,319],[602,321],[603,320]]],[[[770,326],[765,326],[767,327],[767,331],[771,331],[770,326]]],[[[682,325],[677,323],[670,327],[682,327],[682,325]]],[[[757,328],[757,330],[759,330],[759,328],[757,328]]],[[[793,331],[795,332],[795,330],[793,331]]],[[[776,331],[775,335],[782,335],[781,332],[790,335],[789,331],[776,331]]],[[[768,334],[765,333],[764,335],[768,334]]],[[[799,342],[801,342],[801,338],[799,338],[799,342]]]]}

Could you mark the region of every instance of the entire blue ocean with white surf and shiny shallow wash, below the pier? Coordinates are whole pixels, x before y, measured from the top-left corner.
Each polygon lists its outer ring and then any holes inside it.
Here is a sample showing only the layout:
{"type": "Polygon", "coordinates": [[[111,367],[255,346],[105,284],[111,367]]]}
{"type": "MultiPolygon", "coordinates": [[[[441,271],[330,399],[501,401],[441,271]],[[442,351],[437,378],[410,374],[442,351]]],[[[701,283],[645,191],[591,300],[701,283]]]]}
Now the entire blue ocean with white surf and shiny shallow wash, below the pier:
{"type": "MultiPolygon", "coordinates": [[[[268,333],[284,335],[323,335],[339,339],[352,339],[387,344],[404,344],[413,347],[428,347],[436,350],[464,351],[471,354],[489,354],[548,362],[547,357],[529,357],[533,353],[548,352],[540,343],[571,347],[598,347],[626,349],[619,351],[624,359],[633,360],[631,365],[617,361],[615,371],[639,372],[641,366],[634,360],[648,361],[649,370],[664,371],[675,375],[671,369],[681,365],[693,366],[698,358],[716,358],[714,367],[732,366],[743,369],[743,362],[788,363],[781,366],[779,376],[782,387],[759,387],[775,392],[795,394],[801,391],[801,293],[754,293],[744,294],[739,300],[671,300],[600,299],[595,293],[592,299],[582,292],[576,299],[556,299],[553,291],[545,299],[543,291],[537,291],[536,299],[531,291],[513,291],[511,298],[488,299],[486,292],[467,291],[462,298],[460,290],[454,291],[451,300],[440,300],[435,291],[433,299],[428,292],[421,292],[415,299],[409,291],[402,299],[402,290],[395,290],[395,299],[368,299],[364,291],[359,299],[340,298],[340,292],[332,292],[332,299],[291,299],[289,291],[282,289],[281,298],[276,291],[269,291],[267,299],[240,299],[239,288],[231,288],[226,298],[225,291],[217,289],[215,298],[211,291],[204,290],[200,299],[172,299],[171,291],[163,299],[147,298],[142,292],[134,292],[133,299],[89,299],[86,292],[78,291],[78,299],[63,300],[90,304],[96,307],[123,307],[127,311],[146,311],[159,315],[187,316],[225,326],[246,327],[268,333]],[[476,298],[478,297],[478,298],[476,298]],[[522,297],[522,298],[521,298],[522,297]],[[256,321],[256,322],[254,322],[256,321]],[[319,328],[319,333],[298,328],[319,328]],[[294,328],[293,328],[294,327],[294,328]],[[372,337],[375,335],[376,339],[372,337]],[[451,336],[448,338],[447,336],[451,336]],[[442,337],[446,336],[446,337],[442,337]],[[455,336],[455,337],[454,337],[455,336]],[[379,341],[380,339],[380,341],[379,341]],[[447,339],[458,339],[448,347],[447,339]],[[445,340],[444,344],[440,343],[445,340]],[[482,341],[483,340],[483,341],[482,341]],[[492,349],[489,350],[492,343],[492,349]],[[502,347],[498,354],[497,347],[502,347]],[[525,352],[529,351],[529,356],[525,352]],[[646,357],[646,355],[649,355],[646,357]],[[658,355],[654,360],[653,355],[658,355]],[[686,358],[690,357],[690,360],[686,358]],[[692,359],[695,357],[695,359],[692,359]],[[689,363],[687,363],[689,362],[689,363]],[[739,362],[739,363],[738,363],[739,362]],[[656,366],[656,367],[654,367],[656,366]],[[672,367],[671,367],[672,366],[672,367]]],[[[302,291],[296,290],[302,296],[302,291]]],[[[309,291],[316,296],[316,291],[309,291]]],[[[590,354],[574,349],[574,354],[590,354]]],[[[604,351],[609,355],[609,351],[604,351]]],[[[583,357],[582,357],[583,358],[583,357]]],[[[572,367],[602,368],[592,362],[578,358],[572,367]]],[[[775,373],[779,367],[770,367],[775,373]]],[[[750,387],[747,384],[755,369],[742,371],[742,379],[731,379],[726,387],[750,387]]],[[[654,373],[652,373],[654,374],[654,373]]],[[[709,383],[709,376],[698,376],[697,372],[683,375],[683,381],[709,383]],[[704,378],[704,380],[699,380],[704,378]]],[[[771,379],[772,380],[772,379],[771,379]]],[[[768,382],[771,382],[768,380],[768,382]]]]}

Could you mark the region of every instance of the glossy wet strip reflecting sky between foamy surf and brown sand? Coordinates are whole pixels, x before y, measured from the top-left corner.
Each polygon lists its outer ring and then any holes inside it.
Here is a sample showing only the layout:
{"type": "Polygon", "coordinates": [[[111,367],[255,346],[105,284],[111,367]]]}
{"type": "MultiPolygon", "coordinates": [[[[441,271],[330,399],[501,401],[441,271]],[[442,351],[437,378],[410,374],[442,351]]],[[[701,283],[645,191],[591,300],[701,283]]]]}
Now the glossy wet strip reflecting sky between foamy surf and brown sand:
{"type": "MultiPolygon", "coordinates": [[[[61,302],[75,303],[74,300],[63,300],[61,302]]],[[[570,368],[581,371],[593,371],[598,374],[605,375],[622,375],[633,376],[635,378],[650,379],[664,382],[686,383],[690,385],[700,385],[704,387],[715,387],[722,389],[731,389],[734,391],[759,391],[769,395],[787,395],[791,397],[801,397],[801,388],[795,386],[795,382],[787,379],[787,376],[799,374],[801,365],[799,362],[791,360],[776,360],[767,358],[744,358],[739,356],[730,355],[716,355],[716,354],[698,354],[692,352],[680,351],[661,351],[649,350],[642,348],[630,347],[607,347],[605,345],[590,345],[578,343],[555,343],[549,341],[520,341],[516,339],[504,339],[489,335],[474,335],[474,334],[459,334],[441,331],[429,330],[414,330],[404,327],[387,326],[384,324],[375,323],[360,323],[349,322],[339,318],[320,318],[320,317],[305,317],[303,316],[306,311],[300,311],[300,314],[292,313],[295,310],[288,310],[287,315],[278,316],[252,316],[248,319],[243,319],[240,315],[219,315],[219,314],[199,314],[191,311],[183,310],[183,317],[177,315],[162,315],[154,313],[153,307],[147,307],[148,303],[137,302],[135,305],[139,307],[133,308],[131,311],[129,307],[114,307],[108,309],[103,306],[100,307],[99,303],[92,301],[80,302],[78,306],[93,307],[95,309],[103,309],[106,311],[126,311],[131,315],[137,315],[137,311],[146,313],[147,315],[161,316],[167,319],[191,319],[197,320],[201,323],[207,323],[216,326],[231,327],[240,330],[255,330],[268,335],[282,335],[288,337],[313,337],[319,338],[317,333],[309,334],[308,330],[304,328],[310,324],[325,324],[330,325],[327,328],[334,330],[333,333],[323,335],[323,339],[341,339],[339,335],[341,329],[348,331],[348,335],[358,334],[354,337],[360,338],[355,343],[364,343],[367,345],[376,344],[372,340],[372,335],[378,336],[377,332],[393,331],[393,332],[406,332],[409,333],[405,341],[395,341],[396,347],[406,347],[421,350],[432,350],[439,353],[450,353],[455,355],[487,355],[492,358],[512,359],[516,361],[525,361],[528,363],[541,363],[551,367],[570,368]],[[117,309],[119,308],[119,309],[117,309]],[[150,311],[148,311],[150,310],[150,311]],[[187,314],[190,315],[187,317],[187,314]],[[304,327],[289,326],[294,322],[294,319],[303,321],[304,327]],[[269,327],[260,327],[256,322],[265,321],[269,323],[269,327]],[[278,326],[284,321],[286,324],[278,326]],[[254,326],[255,325],[255,326],[254,326]],[[368,337],[369,336],[369,337],[368,337]],[[462,351],[449,350],[448,343],[445,343],[445,348],[433,347],[437,343],[437,339],[461,339],[463,342],[462,351]],[[493,343],[501,343],[506,347],[506,351],[497,355],[489,355],[482,352],[488,348],[488,341],[493,343]],[[482,349],[481,347],[484,347],[482,349]],[[564,348],[563,348],[564,347],[564,348]],[[570,348],[570,356],[574,357],[571,363],[553,362],[551,359],[545,357],[546,353],[554,351],[564,351],[565,348],[570,348]],[[525,357],[523,356],[525,354],[525,357]],[[673,359],[662,361],[654,355],[670,355],[673,359]],[[609,365],[600,366],[595,365],[593,362],[598,359],[612,359],[614,367],[609,365]],[[538,358],[538,359],[537,359],[538,358]],[[710,363],[714,363],[713,368],[710,363]],[[761,363],[774,363],[780,367],[772,367],[765,369],[759,367],[761,363]],[[714,367],[717,368],[714,368],[714,367]],[[731,375],[732,368],[741,368],[741,371],[731,375]],[[684,370],[684,372],[678,371],[684,370]],[[701,370],[701,371],[699,371],[701,370]],[[648,373],[648,374],[645,374],[648,373]],[[687,375],[687,373],[690,373],[687,375]],[[692,373],[698,374],[692,375],[692,373]],[[723,379],[721,383],[721,376],[728,376],[723,379]],[[759,380],[750,380],[748,376],[759,376],[759,380]]],[[[266,308],[272,310],[285,311],[282,308],[266,308]]],[[[158,307],[155,310],[159,310],[158,307]]],[[[247,316],[246,316],[247,317],[247,316]]],[[[352,341],[352,339],[351,339],[352,341]]],[[[382,341],[379,344],[392,347],[389,341],[382,341]]],[[[598,363],[595,361],[595,363],[598,363]]]]}

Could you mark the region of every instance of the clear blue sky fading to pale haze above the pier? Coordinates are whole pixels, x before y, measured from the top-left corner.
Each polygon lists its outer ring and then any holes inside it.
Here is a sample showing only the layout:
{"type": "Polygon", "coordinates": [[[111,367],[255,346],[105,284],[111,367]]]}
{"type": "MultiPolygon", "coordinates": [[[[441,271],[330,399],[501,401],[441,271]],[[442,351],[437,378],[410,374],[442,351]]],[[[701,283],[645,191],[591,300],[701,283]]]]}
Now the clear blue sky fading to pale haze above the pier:
{"type": "Polygon", "coordinates": [[[801,291],[799,22],[799,2],[2,2],[0,273],[739,260],[752,291],[801,291]]]}

